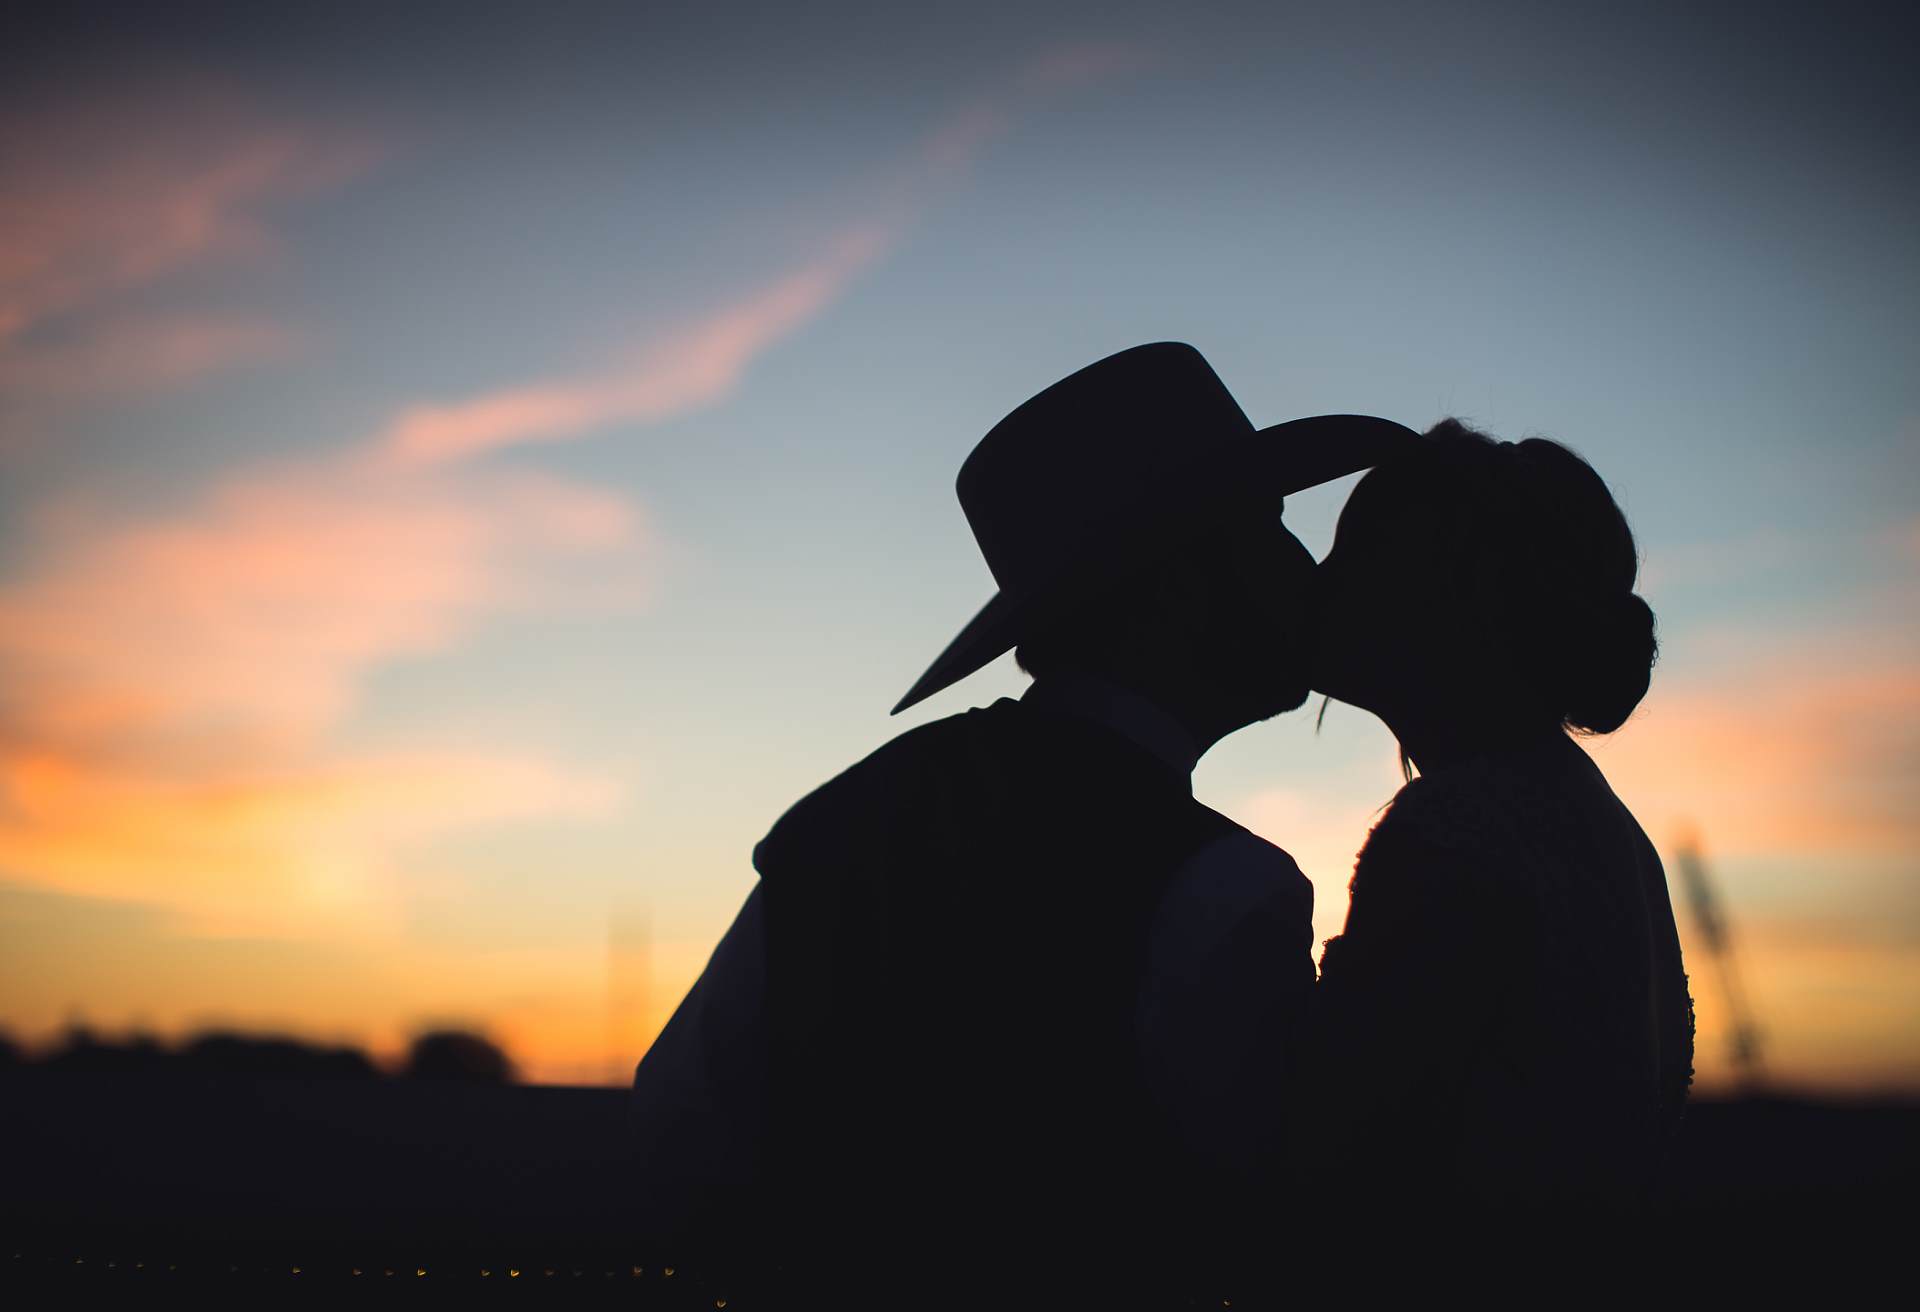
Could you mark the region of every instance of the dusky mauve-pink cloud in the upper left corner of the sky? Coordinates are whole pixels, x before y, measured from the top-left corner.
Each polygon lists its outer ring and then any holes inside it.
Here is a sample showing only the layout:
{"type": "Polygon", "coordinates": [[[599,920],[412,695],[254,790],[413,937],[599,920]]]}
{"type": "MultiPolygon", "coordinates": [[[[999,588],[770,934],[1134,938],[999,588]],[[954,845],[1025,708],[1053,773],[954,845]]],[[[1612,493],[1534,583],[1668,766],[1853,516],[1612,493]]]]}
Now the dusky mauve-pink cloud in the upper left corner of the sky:
{"type": "Polygon", "coordinates": [[[284,355],[259,313],[131,313],[163,280],[276,250],[273,213],[378,150],[275,121],[232,90],[154,83],[0,115],[0,384],[10,401],[175,386],[284,355]]]}

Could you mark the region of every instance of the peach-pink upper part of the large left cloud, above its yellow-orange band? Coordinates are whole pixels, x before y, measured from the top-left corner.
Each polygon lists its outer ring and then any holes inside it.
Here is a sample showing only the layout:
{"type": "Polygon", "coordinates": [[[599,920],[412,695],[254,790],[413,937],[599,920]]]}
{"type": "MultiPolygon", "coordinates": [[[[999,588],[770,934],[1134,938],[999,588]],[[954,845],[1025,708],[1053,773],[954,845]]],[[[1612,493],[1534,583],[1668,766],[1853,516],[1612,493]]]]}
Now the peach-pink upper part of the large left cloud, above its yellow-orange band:
{"type": "MultiPolygon", "coordinates": [[[[363,459],[230,476],[171,517],[48,522],[0,588],[0,668],[65,713],[311,736],[372,665],[440,649],[526,561],[632,546],[607,492],[530,474],[396,480],[363,459]]],[[[40,711],[35,711],[36,715],[40,711]]]]}

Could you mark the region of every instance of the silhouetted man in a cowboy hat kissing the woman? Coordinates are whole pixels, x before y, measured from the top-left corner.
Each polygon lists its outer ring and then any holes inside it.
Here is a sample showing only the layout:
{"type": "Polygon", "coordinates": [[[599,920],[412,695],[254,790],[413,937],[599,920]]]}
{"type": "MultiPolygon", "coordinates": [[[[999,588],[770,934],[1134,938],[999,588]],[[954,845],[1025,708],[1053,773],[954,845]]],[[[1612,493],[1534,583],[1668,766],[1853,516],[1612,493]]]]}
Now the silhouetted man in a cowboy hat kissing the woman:
{"type": "Polygon", "coordinates": [[[1308,693],[1313,559],[1281,499],[1405,442],[1256,430],[1173,342],[979,442],[958,492],[1000,592],[895,711],[1008,649],[1035,684],[902,734],[755,849],[636,1076],[649,1224],[950,1272],[1217,1231],[1275,1164],[1313,895],[1190,774],[1308,693]]]}

